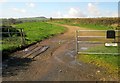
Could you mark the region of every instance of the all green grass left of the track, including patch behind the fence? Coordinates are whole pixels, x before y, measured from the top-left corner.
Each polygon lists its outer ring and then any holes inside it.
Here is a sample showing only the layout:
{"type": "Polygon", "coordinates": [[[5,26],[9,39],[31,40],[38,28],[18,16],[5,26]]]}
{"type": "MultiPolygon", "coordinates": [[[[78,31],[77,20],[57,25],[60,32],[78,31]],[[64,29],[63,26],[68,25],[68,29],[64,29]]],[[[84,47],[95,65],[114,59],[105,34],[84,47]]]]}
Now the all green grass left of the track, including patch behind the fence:
{"type": "MultiPolygon", "coordinates": [[[[49,24],[46,22],[28,22],[22,24],[16,24],[14,27],[23,28],[25,32],[26,46],[42,41],[46,38],[52,37],[57,34],[64,33],[67,29],[62,26],[49,24]]],[[[11,37],[2,39],[2,48],[0,50],[11,51],[17,48],[21,48],[21,37],[11,37]]]]}

